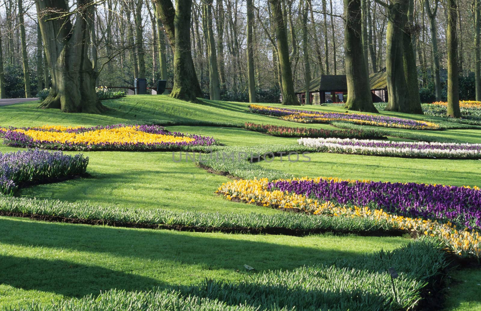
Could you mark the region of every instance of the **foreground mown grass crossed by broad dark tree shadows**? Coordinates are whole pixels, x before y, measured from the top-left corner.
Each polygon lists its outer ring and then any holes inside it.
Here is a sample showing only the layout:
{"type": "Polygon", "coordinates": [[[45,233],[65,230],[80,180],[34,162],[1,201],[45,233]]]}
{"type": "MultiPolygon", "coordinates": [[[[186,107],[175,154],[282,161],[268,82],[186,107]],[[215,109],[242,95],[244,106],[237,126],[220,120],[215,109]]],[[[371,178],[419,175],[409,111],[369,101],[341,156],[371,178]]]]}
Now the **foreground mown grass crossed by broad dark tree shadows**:
{"type": "Polygon", "coordinates": [[[392,250],[401,237],[307,237],[193,233],[95,227],[0,217],[0,306],[81,298],[111,288],[148,290],[204,278],[243,280],[254,273],[293,269],[392,250]]]}

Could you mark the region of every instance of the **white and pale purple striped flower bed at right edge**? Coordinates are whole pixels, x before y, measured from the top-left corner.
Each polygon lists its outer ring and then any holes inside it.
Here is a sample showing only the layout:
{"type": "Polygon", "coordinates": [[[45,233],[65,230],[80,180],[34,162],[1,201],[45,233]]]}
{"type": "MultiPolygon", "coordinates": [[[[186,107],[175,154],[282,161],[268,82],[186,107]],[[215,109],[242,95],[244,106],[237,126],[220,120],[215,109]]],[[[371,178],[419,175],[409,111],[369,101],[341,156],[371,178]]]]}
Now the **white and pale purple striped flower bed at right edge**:
{"type": "Polygon", "coordinates": [[[320,152],[367,156],[481,158],[481,144],[391,142],[339,138],[300,138],[297,142],[304,146],[316,147],[320,152]]]}

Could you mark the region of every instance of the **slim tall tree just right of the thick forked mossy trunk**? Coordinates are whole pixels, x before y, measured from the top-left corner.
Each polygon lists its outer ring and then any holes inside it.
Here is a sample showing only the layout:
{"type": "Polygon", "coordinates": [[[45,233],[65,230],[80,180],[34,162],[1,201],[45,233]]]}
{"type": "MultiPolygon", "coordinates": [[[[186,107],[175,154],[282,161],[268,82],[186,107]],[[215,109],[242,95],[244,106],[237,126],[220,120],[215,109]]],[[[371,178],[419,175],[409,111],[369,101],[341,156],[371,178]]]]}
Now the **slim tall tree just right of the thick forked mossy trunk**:
{"type": "Polygon", "coordinates": [[[207,50],[209,53],[209,94],[211,100],[220,100],[219,70],[215,53],[215,37],[212,25],[212,0],[204,4],[204,18],[207,26],[207,50]]]}

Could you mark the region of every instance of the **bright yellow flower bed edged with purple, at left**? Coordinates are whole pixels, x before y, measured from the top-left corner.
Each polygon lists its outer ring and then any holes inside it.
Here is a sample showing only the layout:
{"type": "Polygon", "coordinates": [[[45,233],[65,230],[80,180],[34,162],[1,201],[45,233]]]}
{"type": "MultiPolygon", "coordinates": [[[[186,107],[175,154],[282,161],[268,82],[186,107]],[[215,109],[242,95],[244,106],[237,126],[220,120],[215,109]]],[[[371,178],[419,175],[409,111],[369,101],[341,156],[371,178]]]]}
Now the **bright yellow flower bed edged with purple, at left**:
{"type": "Polygon", "coordinates": [[[175,150],[216,144],[214,138],[169,132],[158,125],[1,128],[5,144],[59,150],[175,150]]]}

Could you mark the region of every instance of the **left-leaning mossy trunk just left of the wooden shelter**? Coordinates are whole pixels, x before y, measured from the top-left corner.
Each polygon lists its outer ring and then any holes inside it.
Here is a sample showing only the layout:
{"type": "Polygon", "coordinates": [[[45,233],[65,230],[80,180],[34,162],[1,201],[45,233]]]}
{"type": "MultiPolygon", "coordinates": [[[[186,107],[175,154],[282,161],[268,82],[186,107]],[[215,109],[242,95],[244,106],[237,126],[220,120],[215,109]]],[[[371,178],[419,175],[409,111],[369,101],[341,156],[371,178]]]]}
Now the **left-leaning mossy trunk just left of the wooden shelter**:
{"type": "Polygon", "coordinates": [[[282,75],[282,105],[300,105],[294,93],[291,61],[289,60],[289,44],[287,42],[287,31],[282,16],[281,3],[280,0],[269,0],[269,3],[276,24],[277,49],[282,75]]]}

